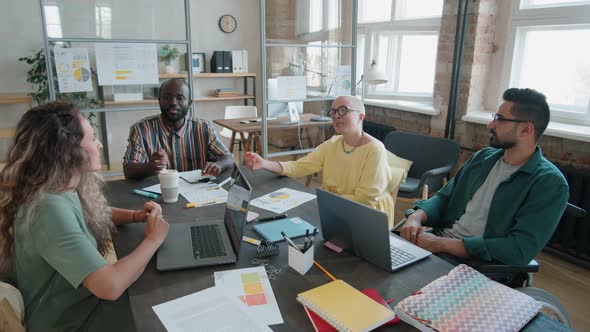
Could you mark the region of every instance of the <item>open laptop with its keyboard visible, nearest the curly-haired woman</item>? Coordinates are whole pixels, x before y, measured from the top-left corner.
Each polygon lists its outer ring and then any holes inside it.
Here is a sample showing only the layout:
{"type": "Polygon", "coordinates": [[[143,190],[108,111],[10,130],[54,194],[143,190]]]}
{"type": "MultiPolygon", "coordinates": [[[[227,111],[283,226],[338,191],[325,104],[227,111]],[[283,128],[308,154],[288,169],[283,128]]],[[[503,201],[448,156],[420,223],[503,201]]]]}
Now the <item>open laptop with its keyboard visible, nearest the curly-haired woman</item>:
{"type": "Polygon", "coordinates": [[[234,263],[238,260],[252,187],[234,165],[223,219],[170,224],[158,250],[159,271],[234,263]]]}

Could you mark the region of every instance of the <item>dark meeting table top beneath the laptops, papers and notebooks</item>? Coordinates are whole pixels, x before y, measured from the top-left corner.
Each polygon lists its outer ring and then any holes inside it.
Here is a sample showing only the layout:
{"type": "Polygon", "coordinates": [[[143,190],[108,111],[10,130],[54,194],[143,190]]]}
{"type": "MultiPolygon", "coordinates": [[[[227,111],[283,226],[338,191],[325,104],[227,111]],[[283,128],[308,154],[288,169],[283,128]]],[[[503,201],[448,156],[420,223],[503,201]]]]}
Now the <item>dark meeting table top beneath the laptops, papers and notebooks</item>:
{"type": "MultiPolygon", "coordinates": [[[[245,171],[245,175],[254,188],[252,198],[260,197],[283,187],[312,192],[309,188],[292,179],[277,177],[268,172],[253,173],[245,171]]],[[[228,172],[219,178],[224,179],[227,176],[229,176],[228,172]]],[[[157,183],[155,178],[148,178],[144,181],[120,180],[108,182],[106,188],[107,197],[113,206],[136,209],[147,199],[132,194],[131,190],[133,188],[144,188],[155,183],[157,183]]],[[[162,205],[164,217],[170,223],[189,222],[195,219],[222,218],[225,208],[224,204],[217,204],[196,209],[185,209],[183,206],[186,201],[182,196],[174,204],[165,204],[161,201],[161,198],[157,201],[162,205]]],[[[260,213],[263,217],[272,215],[268,211],[255,207],[252,207],[251,210],[260,213]]],[[[288,214],[289,216],[299,216],[316,227],[320,227],[316,200],[289,210],[288,214]]],[[[142,241],[144,224],[124,225],[118,227],[118,230],[119,232],[114,236],[114,244],[117,255],[123,257],[142,241]]],[[[246,225],[244,234],[259,238],[252,229],[252,224],[246,225]]],[[[321,236],[319,237],[321,239],[321,236]]],[[[336,278],[346,281],[357,289],[376,288],[385,299],[394,299],[392,306],[452,269],[452,266],[447,262],[436,256],[431,256],[405,269],[390,273],[351,254],[337,254],[325,248],[321,241],[316,241],[314,250],[315,259],[336,278]]],[[[137,330],[142,332],[165,331],[152,306],[214,286],[213,273],[215,271],[254,267],[255,265],[251,262],[255,257],[255,253],[256,248],[254,246],[243,243],[239,253],[239,261],[235,264],[169,272],[156,271],[156,258],[153,257],[144,273],[131,285],[128,291],[137,330]]],[[[274,331],[311,331],[312,326],[309,319],[302,305],[295,298],[298,293],[325,284],[330,279],[316,267],[312,267],[304,276],[288,267],[287,245],[284,242],[280,243],[280,254],[272,256],[268,263],[275,268],[281,269],[277,279],[270,280],[270,283],[284,320],[283,324],[272,325],[271,328],[274,331]]],[[[382,327],[379,330],[413,331],[415,329],[402,322],[393,326],[382,327]]]]}

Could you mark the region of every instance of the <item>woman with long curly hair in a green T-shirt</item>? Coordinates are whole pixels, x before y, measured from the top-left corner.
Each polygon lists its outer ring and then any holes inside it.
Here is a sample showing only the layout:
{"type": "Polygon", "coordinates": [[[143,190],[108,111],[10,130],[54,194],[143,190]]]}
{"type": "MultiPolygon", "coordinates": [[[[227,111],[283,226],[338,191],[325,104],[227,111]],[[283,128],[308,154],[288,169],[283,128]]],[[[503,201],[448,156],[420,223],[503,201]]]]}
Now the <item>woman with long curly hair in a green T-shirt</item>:
{"type": "Polygon", "coordinates": [[[94,130],[71,104],[49,103],[20,120],[0,172],[0,262],[14,269],[28,331],[134,330],[124,292],[168,234],[161,207],[109,207],[94,130]],[[117,224],[146,221],[145,238],[109,264],[117,224]],[[121,296],[123,295],[123,296],[121,296]]]}

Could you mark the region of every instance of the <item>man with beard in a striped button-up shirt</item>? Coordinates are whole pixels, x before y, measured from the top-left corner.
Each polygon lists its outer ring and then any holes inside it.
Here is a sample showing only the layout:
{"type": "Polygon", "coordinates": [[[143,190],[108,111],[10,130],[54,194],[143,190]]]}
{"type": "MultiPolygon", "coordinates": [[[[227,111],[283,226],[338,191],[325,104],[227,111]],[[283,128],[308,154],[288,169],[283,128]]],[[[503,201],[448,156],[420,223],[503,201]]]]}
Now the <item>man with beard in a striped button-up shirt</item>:
{"type": "Polygon", "coordinates": [[[188,84],[181,78],[162,83],[158,96],[161,114],[135,123],[129,130],[123,172],[143,179],[164,168],[179,172],[202,169],[219,175],[233,166],[230,152],[210,123],[187,117],[192,104],[188,84]]]}

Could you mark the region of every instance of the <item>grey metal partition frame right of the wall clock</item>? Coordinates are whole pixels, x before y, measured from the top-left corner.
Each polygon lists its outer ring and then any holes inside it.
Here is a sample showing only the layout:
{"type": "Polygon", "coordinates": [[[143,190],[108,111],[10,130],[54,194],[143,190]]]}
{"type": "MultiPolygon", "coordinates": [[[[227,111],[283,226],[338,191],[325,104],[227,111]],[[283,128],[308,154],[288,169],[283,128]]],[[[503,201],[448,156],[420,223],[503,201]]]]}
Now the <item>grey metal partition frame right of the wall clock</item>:
{"type": "MultiPolygon", "coordinates": [[[[346,0],[342,0],[346,1],[346,0]]],[[[354,82],[356,82],[356,29],[357,29],[357,20],[358,20],[358,0],[351,0],[352,2],[352,22],[351,22],[351,43],[350,44],[339,44],[339,45],[309,45],[309,44],[293,44],[293,43],[267,43],[266,40],[266,0],[260,1],[260,41],[261,41],[261,81],[262,81],[262,154],[263,158],[267,159],[269,157],[280,157],[280,156],[288,156],[294,154],[306,154],[312,152],[314,149],[299,149],[299,150],[291,150],[287,152],[278,152],[278,153],[268,153],[268,124],[267,124],[267,114],[268,114],[268,105],[273,103],[284,103],[284,102],[309,102],[309,101],[332,101],[334,98],[327,96],[327,97],[318,97],[318,98],[305,98],[305,99],[297,99],[297,100],[268,100],[268,69],[266,65],[267,61],[267,50],[270,48],[275,47],[297,47],[297,48],[312,48],[312,47],[319,47],[319,48],[338,48],[338,49],[350,49],[351,50],[351,95],[355,95],[354,89],[354,82]]],[[[299,127],[293,125],[294,128],[300,130],[299,127]]]]}

